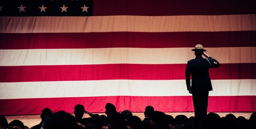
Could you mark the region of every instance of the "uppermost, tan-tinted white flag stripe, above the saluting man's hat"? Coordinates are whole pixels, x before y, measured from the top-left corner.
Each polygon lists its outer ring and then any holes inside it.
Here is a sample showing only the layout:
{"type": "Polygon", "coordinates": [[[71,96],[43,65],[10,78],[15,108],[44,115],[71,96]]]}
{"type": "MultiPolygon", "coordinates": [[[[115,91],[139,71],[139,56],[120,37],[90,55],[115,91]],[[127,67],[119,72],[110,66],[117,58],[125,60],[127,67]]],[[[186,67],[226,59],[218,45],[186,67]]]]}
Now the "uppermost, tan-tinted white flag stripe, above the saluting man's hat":
{"type": "Polygon", "coordinates": [[[255,23],[256,14],[0,17],[0,33],[248,31],[256,30],[255,23]]]}

